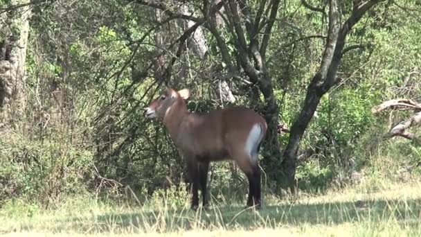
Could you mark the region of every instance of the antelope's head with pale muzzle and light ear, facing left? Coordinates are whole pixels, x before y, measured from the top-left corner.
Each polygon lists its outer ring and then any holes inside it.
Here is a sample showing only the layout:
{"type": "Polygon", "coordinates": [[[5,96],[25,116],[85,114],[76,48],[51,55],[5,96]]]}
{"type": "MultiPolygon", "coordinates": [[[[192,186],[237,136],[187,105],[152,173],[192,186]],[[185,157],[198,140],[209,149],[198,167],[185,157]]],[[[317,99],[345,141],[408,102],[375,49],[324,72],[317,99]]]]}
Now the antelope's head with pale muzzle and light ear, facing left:
{"type": "Polygon", "coordinates": [[[181,89],[176,91],[166,88],[161,95],[154,99],[148,107],[145,107],[145,116],[149,119],[163,118],[177,100],[187,100],[190,97],[190,90],[181,89]]]}

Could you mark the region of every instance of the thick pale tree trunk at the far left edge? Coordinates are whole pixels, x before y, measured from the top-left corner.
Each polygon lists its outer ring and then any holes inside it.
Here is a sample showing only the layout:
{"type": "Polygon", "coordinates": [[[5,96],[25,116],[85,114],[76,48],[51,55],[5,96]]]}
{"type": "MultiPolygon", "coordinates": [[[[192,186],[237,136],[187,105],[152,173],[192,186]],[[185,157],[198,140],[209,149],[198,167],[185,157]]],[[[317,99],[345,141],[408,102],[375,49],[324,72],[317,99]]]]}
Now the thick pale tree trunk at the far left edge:
{"type": "MultiPolygon", "coordinates": [[[[13,0],[10,5],[29,3],[29,0],[13,0]]],[[[25,61],[28,43],[30,10],[28,6],[0,15],[6,21],[0,39],[0,123],[18,128],[17,121],[24,116],[25,108],[25,61]]]]}

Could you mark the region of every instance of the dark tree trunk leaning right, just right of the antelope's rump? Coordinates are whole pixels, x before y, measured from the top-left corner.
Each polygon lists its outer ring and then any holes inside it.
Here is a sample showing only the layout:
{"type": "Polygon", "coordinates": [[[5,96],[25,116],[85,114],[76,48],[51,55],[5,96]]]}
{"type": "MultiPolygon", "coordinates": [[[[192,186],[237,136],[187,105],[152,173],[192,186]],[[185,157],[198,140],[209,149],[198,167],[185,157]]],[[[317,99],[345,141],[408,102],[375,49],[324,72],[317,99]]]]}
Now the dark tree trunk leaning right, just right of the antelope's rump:
{"type": "Polygon", "coordinates": [[[350,33],[352,27],[361,20],[368,10],[381,1],[352,1],[353,6],[350,17],[343,23],[341,23],[340,2],[337,0],[329,1],[329,30],[321,65],[319,71],[317,71],[310,85],[307,87],[307,94],[303,101],[301,112],[292,124],[287,148],[285,148],[283,153],[282,171],[285,175],[285,187],[294,189],[296,157],[301,138],[314,116],[321,97],[339,82],[337,72],[343,54],[352,49],[352,47],[355,47],[350,46],[349,48],[345,48],[348,33],[350,33]]]}

